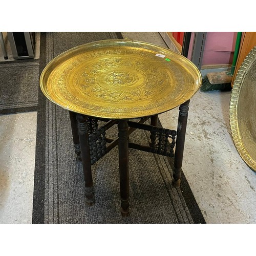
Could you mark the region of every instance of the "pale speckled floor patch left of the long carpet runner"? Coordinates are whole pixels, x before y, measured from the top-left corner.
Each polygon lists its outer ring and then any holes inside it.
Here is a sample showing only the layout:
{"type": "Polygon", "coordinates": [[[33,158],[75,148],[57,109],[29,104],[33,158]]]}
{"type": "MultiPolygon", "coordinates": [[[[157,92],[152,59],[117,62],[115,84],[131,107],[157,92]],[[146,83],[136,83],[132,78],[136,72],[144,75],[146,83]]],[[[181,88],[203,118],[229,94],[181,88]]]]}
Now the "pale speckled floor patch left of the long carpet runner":
{"type": "Polygon", "coordinates": [[[36,117],[0,116],[0,223],[31,223],[36,117]]]}

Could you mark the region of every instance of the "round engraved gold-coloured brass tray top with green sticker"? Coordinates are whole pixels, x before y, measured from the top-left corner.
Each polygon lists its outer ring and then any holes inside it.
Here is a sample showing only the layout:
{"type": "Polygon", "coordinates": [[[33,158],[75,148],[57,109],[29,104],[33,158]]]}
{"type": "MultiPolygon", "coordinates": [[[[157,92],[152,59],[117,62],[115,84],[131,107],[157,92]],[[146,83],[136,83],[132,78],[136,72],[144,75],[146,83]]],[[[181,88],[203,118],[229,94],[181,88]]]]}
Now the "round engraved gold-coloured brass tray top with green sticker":
{"type": "Polygon", "coordinates": [[[146,42],[101,40],[55,57],[40,76],[45,96],[70,111],[110,119],[176,108],[200,88],[201,74],[181,54],[146,42]]]}

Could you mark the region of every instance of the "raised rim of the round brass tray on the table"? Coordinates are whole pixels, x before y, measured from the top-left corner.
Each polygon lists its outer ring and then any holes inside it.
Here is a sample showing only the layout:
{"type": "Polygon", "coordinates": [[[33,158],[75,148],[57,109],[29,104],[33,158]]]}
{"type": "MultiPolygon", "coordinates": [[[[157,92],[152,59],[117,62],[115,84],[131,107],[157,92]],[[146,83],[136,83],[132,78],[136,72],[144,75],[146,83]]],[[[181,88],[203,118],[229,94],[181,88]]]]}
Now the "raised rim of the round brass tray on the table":
{"type": "MultiPolygon", "coordinates": [[[[44,79],[44,77],[46,76],[46,73],[49,71],[49,68],[51,68],[51,66],[54,65],[55,62],[57,62],[59,59],[65,57],[65,55],[68,55],[68,54],[72,54],[73,52],[79,50],[80,48],[83,48],[83,47],[90,47],[90,45],[94,46],[95,44],[101,44],[103,42],[116,42],[116,43],[120,43],[120,44],[128,44],[128,43],[136,43],[136,44],[139,44],[141,46],[146,46],[146,49],[150,49],[150,50],[158,50],[159,53],[169,53],[169,52],[172,52],[172,54],[177,54],[179,55],[179,53],[175,52],[175,51],[172,51],[168,48],[164,48],[164,47],[161,47],[161,46],[158,46],[158,45],[155,45],[155,44],[152,44],[150,42],[145,42],[145,41],[139,41],[139,40],[131,40],[131,39],[104,39],[104,40],[97,40],[97,41],[92,41],[92,42],[88,42],[86,44],[82,44],[82,45],[79,45],[79,46],[76,46],[76,47],[73,47],[73,48],[70,48],[68,49],[67,51],[65,52],[62,52],[60,53],[59,55],[57,55],[56,57],[54,57],[51,61],[48,62],[48,64],[46,65],[46,67],[42,70],[41,72],[41,75],[40,75],[40,79],[39,79],[39,86],[40,86],[40,89],[41,91],[44,93],[44,95],[51,101],[53,102],[54,104],[60,106],[61,108],[63,109],[66,109],[66,110],[69,110],[69,111],[73,111],[75,113],[80,113],[80,114],[84,114],[84,113],[81,113],[79,111],[75,111],[75,110],[72,110],[70,109],[69,107],[67,106],[63,106],[62,104],[54,101],[50,95],[48,94],[47,90],[45,90],[44,86],[42,85],[43,82],[42,80],[44,79]],[[155,49],[154,49],[155,48],[155,49]]],[[[106,45],[102,46],[102,47],[105,47],[106,45]]],[[[114,46],[114,45],[113,45],[114,46]]],[[[116,46],[116,45],[115,45],[116,46]]],[[[180,54],[181,55],[181,54],[180,54]]],[[[182,57],[184,57],[183,55],[181,55],[182,57]]],[[[198,90],[200,89],[201,87],[201,84],[202,84],[202,75],[200,73],[200,71],[198,70],[198,68],[196,67],[196,65],[191,61],[189,60],[188,58],[184,57],[186,59],[186,61],[191,65],[191,67],[194,68],[194,71],[195,71],[195,74],[197,75],[198,77],[198,88],[196,90],[194,90],[194,92],[190,95],[189,98],[185,99],[182,103],[186,102],[187,100],[191,99],[197,92],[198,90]]],[[[174,106],[173,108],[171,109],[167,109],[167,110],[163,110],[162,112],[159,112],[157,114],[162,114],[162,113],[165,113],[167,111],[170,111],[170,110],[173,110],[175,108],[177,108],[177,106],[179,106],[180,104],[182,103],[179,103],[177,104],[176,106],[174,106]]],[[[89,114],[84,114],[84,115],[88,115],[90,116],[89,114]]],[[[154,114],[156,115],[156,114],[154,114]]],[[[97,116],[97,115],[91,115],[92,117],[98,117],[98,118],[103,118],[103,119],[109,119],[111,117],[102,117],[102,116],[97,116]]],[[[144,117],[144,116],[148,116],[148,115],[138,115],[138,116],[133,116],[133,117],[125,117],[125,118],[119,118],[119,117],[116,117],[116,118],[111,118],[111,119],[134,119],[134,118],[139,118],[139,117],[144,117]]]]}

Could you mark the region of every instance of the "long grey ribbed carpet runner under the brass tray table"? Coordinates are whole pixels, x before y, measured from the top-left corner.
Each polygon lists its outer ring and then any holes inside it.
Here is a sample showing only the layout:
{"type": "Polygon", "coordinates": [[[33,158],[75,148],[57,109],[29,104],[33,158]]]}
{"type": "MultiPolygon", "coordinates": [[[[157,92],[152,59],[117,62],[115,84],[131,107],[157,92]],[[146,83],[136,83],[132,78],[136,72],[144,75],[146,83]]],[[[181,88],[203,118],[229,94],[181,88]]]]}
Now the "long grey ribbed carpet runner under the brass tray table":
{"type": "MultiPolygon", "coordinates": [[[[120,33],[42,33],[40,72],[63,51],[120,33]],[[45,51],[42,51],[45,46],[45,51]]],[[[110,131],[115,137],[117,127],[110,131]]],[[[131,141],[146,144],[137,130],[131,141]]],[[[205,223],[190,188],[172,186],[167,157],[130,149],[129,217],[120,214],[118,147],[92,166],[95,204],[86,205],[81,162],[75,160],[69,113],[38,94],[33,223],[205,223]]]]}

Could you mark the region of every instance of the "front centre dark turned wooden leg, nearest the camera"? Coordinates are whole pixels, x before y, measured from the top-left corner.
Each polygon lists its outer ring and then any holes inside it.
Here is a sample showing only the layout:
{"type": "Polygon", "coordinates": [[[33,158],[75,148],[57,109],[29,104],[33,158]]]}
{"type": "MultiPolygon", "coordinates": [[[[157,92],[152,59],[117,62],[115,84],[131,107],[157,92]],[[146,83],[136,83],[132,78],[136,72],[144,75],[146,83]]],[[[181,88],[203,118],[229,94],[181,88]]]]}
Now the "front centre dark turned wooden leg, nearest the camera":
{"type": "Polygon", "coordinates": [[[119,178],[121,214],[129,215],[129,146],[128,146],[128,123],[121,120],[118,123],[118,148],[119,148],[119,178]]]}

